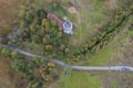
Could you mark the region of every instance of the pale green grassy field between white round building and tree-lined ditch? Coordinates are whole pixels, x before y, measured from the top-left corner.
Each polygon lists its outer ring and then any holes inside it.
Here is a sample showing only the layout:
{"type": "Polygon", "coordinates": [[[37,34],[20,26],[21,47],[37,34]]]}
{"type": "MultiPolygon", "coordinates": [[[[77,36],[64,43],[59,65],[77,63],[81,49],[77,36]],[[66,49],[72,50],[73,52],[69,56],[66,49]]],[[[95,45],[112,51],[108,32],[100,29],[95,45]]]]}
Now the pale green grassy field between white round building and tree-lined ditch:
{"type": "Polygon", "coordinates": [[[99,32],[99,29],[104,25],[108,20],[110,8],[105,1],[100,0],[79,0],[78,2],[78,28],[74,31],[74,38],[76,44],[84,43],[85,40],[91,38],[99,32]],[[88,38],[86,38],[88,36],[88,38]]]}

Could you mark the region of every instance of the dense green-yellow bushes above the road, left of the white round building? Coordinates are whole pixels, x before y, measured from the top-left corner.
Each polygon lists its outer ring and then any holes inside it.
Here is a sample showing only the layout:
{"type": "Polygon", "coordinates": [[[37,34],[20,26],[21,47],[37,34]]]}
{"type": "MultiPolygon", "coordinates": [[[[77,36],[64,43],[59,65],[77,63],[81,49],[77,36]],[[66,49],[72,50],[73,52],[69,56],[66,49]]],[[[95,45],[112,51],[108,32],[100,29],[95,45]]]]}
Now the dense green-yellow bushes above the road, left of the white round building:
{"type": "Polygon", "coordinates": [[[41,44],[44,55],[62,58],[66,53],[64,48],[68,46],[69,36],[62,32],[57,21],[48,19],[47,14],[44,9],[22,10],[19,18],[22,35],[18,40],[21,44],[30,44],[31,48],[34,48],[34,44],[41,44]]]}

